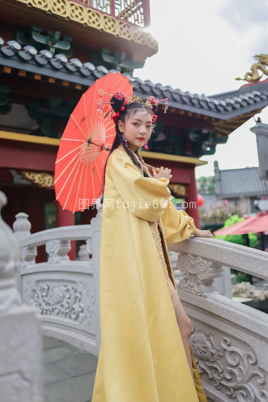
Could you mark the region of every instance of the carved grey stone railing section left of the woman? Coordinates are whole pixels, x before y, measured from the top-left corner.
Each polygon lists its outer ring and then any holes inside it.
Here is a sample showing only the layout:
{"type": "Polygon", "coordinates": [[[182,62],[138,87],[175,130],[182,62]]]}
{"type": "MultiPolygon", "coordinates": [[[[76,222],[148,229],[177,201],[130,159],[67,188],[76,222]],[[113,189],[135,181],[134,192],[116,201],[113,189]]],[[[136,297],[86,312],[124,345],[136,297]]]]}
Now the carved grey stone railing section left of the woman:
{"type": "Polygon", "coordinates": [[[95,250],[100,249],[101,209],[91,222],[31,234],[28,215],[19,213],[13,229],[21,250],[20,292],[25,304],[39,309],[43,334],[98,355],[99,252],[95,250]],[[71,240],[86,240],[76,261],[68,256],[71,240]],[[47,262],[36,263],[37,248],[43,245],[47,262]]]}

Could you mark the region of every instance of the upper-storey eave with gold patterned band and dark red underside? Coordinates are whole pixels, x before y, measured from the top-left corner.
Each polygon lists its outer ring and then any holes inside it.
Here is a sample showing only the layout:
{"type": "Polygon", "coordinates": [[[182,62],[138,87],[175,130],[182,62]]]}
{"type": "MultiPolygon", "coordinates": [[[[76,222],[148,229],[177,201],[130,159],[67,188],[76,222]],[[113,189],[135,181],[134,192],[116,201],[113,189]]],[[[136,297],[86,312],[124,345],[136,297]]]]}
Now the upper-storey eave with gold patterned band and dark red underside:
{"type": "Polygon", "coordinates": [[[135,61],[143,61],[158,51],[157,41],[143,28],[76,2],[61,1],[60,6],[55,6],[51,0],[0,0],[0,8],[6,20],[17,20],[19,15],[27,25],[47,25],[87,47],[96,43],[105,47],[108,42],[110,49],[127,51],[135,61]]]}

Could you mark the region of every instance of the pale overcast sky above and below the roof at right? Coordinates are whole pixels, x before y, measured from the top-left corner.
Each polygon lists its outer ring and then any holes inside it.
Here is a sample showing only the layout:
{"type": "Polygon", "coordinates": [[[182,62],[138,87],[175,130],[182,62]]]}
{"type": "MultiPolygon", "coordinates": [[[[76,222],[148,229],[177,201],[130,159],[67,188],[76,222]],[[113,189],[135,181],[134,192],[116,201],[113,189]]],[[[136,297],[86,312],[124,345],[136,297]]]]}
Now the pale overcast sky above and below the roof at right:
{"type": "MultiPolygon", "coordinates": [[[[158,53],[147,59],[134,76],[192,93],[212,95],[236,90],[254,55],[268,53],[268,0],[151,0],[151,27],[158,53]]],[[[266,77],[265,77],[266,78],[266,77]]],[[[268,123],[268,108],[260,114],[268,123]]],[[[196,176],[220,169],[258,166],[256,136],[250,119],[218,145],[209,163],[196,168],[196,176]]]]}

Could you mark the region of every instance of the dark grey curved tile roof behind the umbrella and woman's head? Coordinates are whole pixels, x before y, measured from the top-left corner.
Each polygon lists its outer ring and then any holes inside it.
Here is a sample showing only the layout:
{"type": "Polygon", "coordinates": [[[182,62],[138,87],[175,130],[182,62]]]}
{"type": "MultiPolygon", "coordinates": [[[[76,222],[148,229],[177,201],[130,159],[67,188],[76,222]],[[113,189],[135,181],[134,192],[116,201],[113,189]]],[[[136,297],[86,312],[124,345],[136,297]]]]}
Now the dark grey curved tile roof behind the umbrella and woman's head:
{"type": "MultiPolygon", "coordinates": [[[[37,51],[33,46],[22,48],[16,41],[9,41],[4,45],[2,38],[0,38],[0,65],[86,87],[108,73],[104,66],[94,66],[90,62],[82,63],[78,59],[68,59],[62,54],[53,56],[49,51],[37,51]]],[[[229,120],[268,105],[268,82],[242,86],[233,92],[208,97],[183,92],[171,86],[153,84],[149,80],[142,81],[131,76],[129,80],[137,95],[146,97],[152,94],[158,98],[169,98],[170,107],[217,119],[229,120]]]]}

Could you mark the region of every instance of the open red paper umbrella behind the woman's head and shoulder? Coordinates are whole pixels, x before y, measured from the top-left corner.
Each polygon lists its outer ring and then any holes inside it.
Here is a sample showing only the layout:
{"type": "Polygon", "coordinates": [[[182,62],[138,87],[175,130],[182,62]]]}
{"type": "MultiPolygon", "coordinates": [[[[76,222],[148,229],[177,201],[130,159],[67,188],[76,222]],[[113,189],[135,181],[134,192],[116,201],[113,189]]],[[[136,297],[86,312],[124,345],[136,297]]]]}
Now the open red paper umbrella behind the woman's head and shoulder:
{"type": "Polygon", "coordinates": [[[100,195],[107,151],[115,138],[114,112],[108,105],[108,94],[118,92],[125,97],[133,95],[129,79],[119,72],[106,74],[82,95],[70,116],[55,162],[55,194],[62,209],[84,211],[100,195]]]}

